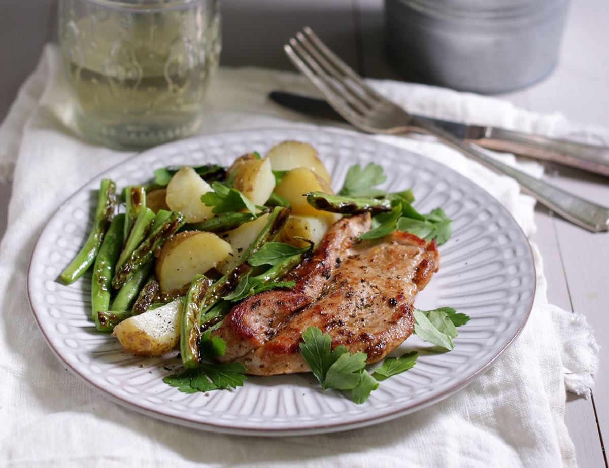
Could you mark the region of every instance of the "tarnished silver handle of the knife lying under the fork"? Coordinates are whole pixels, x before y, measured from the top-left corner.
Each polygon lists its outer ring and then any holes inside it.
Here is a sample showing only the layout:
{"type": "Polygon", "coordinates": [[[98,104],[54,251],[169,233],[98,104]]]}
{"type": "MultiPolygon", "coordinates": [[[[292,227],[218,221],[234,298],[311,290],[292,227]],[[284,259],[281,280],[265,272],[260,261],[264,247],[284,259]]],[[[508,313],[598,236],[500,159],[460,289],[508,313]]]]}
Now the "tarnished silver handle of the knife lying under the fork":
{"type": "Polygon", "coordinates": [[[491,150],[516,153],[532,158],[559,162],[566,166],[609,176],[609,148],[587,145],[544,136],[519,133],[495,127],[478,127],[482,131],[472,134],[472,143],[491,150]]]}

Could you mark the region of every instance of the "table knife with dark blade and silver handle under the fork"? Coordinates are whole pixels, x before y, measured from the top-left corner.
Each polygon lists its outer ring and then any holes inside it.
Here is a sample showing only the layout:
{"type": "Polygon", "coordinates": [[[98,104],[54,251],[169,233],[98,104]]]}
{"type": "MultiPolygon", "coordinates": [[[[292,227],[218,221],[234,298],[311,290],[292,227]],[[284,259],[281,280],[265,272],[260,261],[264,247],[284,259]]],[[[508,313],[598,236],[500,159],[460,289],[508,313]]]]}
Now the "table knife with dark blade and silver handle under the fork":
{"type": "MultiPolygon", "coordinates": [[[[308,116],[348,123],[347,120],[343,119],[339,113],[322,99],[286,93],[284,91],[272,91],[269,94],[269,98],[283,107],[307,114],[308,116]]],[[[443,128],[457,138],[491,150],[558,162],[565,166],[577,167],[577,169],[609,176],[608,147],[547,138],[545,136],[505,130],[498,127],[466,125],[449,120],[417,117],[429,120],[429,122],[438,125],[438,127],[443,128]]]]}

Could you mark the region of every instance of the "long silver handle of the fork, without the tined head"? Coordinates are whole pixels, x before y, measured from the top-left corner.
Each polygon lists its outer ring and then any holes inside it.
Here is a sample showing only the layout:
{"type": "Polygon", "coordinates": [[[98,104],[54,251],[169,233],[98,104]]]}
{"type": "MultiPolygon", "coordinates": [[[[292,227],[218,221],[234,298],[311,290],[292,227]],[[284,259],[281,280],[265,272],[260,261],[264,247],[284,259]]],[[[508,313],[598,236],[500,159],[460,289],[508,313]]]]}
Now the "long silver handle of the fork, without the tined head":
{"type": "Polygon", "coordinates": [[[520,184],[524,192],[537,198],[541,204],[544,204],[547,208],[557,212],[572,223],[592,232],[609,230],[609,208],[584,200],[543,180],[536,179],[518,169],[507,166],[507,164],[503,164],[485,155],[476,145],[467,144],[430,122],[412,117],[409,123],[439,138],[450,147],[468,156],[468,158],[481,162],[484,166],[495,170],[495,172],[512,177],[520,184]]]}

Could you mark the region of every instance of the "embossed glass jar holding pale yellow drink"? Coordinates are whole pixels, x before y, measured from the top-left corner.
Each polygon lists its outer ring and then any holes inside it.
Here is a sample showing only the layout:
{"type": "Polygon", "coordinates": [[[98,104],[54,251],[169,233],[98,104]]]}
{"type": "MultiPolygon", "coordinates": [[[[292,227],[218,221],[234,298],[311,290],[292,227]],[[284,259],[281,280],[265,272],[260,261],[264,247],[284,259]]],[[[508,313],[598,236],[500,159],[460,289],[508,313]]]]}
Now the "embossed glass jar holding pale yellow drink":
{"type": "Polygon", "coordinates": [[[150,147],[200,126],[220,57],[219,0],[60,0],[74,119],[114,147],[150,147]]]}

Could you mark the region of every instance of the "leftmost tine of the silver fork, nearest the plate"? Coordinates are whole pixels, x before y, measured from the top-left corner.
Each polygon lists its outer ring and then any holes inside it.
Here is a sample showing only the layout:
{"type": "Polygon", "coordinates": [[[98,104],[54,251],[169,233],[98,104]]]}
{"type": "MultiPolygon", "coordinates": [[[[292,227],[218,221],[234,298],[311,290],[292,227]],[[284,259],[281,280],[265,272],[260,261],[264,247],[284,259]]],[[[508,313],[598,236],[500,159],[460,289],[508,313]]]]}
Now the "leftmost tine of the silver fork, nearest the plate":
{"type": "Polygon", "coordinates": [[[328,100],[328,102],[333,105],[333,107],[339,111],[343,117],[345,117],[345,119],[354,125],[364,124],[361,119],[361,115],[357,114],[353,108],[349,107],[344,97],[340,95],[340,91],[337,93],[336,88],[333,89],[334,83],[331,83],[328,80],[328,76],[323,73],[315,61],[311,60],[311,57],[300,46],[300,44],[298,44],[294,38],[291,38],[289,42],[290,43],[286,44],[283,48],[284,51],[286,51],[287,57],[292,61],[292,63],[294,63],[296,68],[298,68],[309,80],[311,80],[311,83],[313,83],[313,85],[319,89],[326,100],[328,100]],[[315,65],[317,65],[317,69],[315,69],[315,65]],[[322,74],[320,75],[319,72],[322,72],[322,74]]]}

